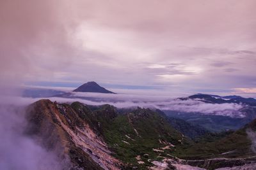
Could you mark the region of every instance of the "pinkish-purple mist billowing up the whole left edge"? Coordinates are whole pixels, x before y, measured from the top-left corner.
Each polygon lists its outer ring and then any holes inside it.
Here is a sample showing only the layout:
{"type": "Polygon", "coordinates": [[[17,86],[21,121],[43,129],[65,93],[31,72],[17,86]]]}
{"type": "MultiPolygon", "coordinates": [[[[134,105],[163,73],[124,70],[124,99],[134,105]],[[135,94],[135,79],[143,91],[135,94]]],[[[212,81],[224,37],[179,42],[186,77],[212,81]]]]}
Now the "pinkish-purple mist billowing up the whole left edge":
{"type": "MultiPolygon", "coordinates": [[[[60,2],[60,1],[59,1],[60,2]]],[[[57,2],[54,2],[57,3],[57,2]]],[[[63,169],[65,164],[24,134],[26,103],[19,96],[25,81],[70,64],[72,46],[67,41],[65,21],[59,20],[52,1],[0,2],[0,169],[63,169]],[[52,56],[61,56],[54,58],[52,56]],[[51,60],[51,62],[49,62],[51,60]],[[50,71],[51,70],[51,71],[50,71]]],[[[68,18],[68,16],[67,16],[68,18]]]]}

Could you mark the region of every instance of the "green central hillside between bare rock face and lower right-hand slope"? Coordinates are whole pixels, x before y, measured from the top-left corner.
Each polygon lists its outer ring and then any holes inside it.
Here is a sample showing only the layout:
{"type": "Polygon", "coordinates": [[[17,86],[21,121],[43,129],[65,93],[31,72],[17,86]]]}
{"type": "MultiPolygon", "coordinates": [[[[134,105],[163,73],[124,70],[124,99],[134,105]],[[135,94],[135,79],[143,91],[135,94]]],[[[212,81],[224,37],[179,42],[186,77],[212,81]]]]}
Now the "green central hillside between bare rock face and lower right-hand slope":
{"type": "Polygon", "coordinates": [[[100,132],[114,156],[128,167],[146,169],[152,166],[150,161],[172,157],[177,146],[191,143],[170,126],[164,115],[149,109],[138,108],[120,114],[108,104],[93,108],[93,111],[80,103],[71,106],[81,118],[90,122],[92,129],[100,132]],[[166,146],[170,148],[164,149],[166,146]],[[138,164],[138,161],[144,164],[138,164]]]}

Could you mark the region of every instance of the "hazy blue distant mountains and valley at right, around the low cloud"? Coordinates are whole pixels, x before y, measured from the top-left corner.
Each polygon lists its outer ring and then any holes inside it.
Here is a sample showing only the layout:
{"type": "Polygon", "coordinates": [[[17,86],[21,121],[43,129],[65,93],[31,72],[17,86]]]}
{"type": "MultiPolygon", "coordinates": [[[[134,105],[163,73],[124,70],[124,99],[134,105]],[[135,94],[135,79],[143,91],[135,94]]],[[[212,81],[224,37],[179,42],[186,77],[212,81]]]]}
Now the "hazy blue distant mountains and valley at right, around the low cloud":
{"type": "MultiPolygon", "coordinates": [[[[236,131],[256,118],[256,99],[244,98],[241,96],[217,96],[211,94],[195,94],[189,97],[178,98],[181,101],[191,100],[193,102],[214,104],[216,107],[225,105],[236,106],[239,109],[234,109],[228,114],[215,114],[211,115],[200,113],[200,111],[179,111],[179,110],[163,110],[168,117],[175,117],[185,120],[191,125],[200,125],[211,132],[221,132],[227,130],[236,131]],[[222,114],[222,115],[221,115],[222,114]]],[[[214,106],[212,105],[212,106],[214,106]]],[[[174,121],[174,120],[173,120],[174,121]]],[[[184,134],[187,131],[182,131],[184,134]]],[[[200,132],[200,131],[198,131],[200,132]]],[[[188,134],[187,134],[188,135],[188,134]]],[[[193,136],[190,136],[193,137],[193,136]]]]}

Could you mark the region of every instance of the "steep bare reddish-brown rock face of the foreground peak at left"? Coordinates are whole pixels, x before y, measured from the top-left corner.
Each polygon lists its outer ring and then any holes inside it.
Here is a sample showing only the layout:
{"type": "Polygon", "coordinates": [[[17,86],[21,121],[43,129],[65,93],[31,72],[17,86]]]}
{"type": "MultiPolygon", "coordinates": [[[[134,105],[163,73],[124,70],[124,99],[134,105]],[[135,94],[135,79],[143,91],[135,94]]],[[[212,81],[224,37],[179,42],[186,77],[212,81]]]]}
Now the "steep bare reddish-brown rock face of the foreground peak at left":
{"type": "Polygon", "coordinates": [[[68,104],[40,100],[28,108],[26,134],[67,162],[67,169],[120,169],[108,146],[68,104]]]}

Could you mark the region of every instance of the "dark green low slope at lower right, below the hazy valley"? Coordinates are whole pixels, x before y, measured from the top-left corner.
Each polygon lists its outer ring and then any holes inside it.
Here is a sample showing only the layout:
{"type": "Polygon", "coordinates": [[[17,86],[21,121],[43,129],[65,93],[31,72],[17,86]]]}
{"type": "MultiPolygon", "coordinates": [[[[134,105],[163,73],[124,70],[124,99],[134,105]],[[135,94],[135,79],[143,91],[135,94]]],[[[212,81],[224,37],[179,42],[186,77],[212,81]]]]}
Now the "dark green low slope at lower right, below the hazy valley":
{"type": "Polygon", "coordinates": [[[228,136],[221,138],[213,136],[202,138],[194,145],[181,146],[175,155],[182,159],[206,159],[214,157],[239,158],[254,155],[252,153],[251,141],[245,129],[236,131],[228,136]],[[210,141],[209,141],[210,140],[210,141]]]}

